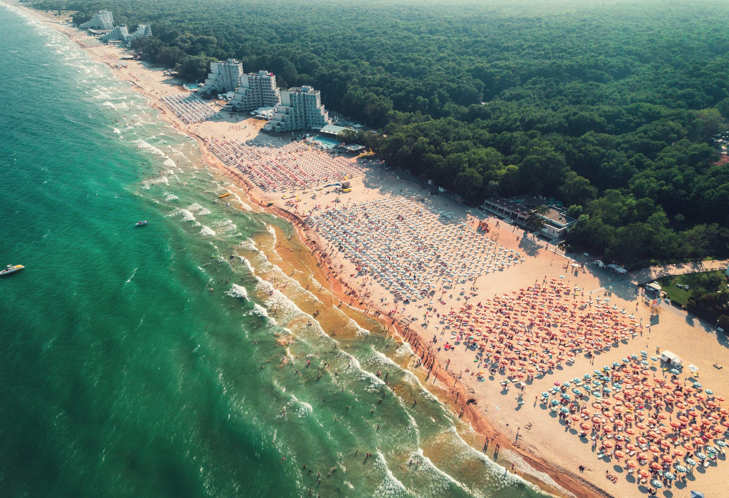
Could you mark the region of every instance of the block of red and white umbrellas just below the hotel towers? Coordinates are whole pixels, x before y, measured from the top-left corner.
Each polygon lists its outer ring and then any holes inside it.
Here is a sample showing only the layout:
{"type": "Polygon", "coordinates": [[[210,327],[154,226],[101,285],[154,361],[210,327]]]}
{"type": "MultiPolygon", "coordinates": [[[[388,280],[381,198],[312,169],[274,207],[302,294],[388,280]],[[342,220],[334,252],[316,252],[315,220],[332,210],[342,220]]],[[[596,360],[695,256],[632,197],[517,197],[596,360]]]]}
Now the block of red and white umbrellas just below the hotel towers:
{"type": "Polygon", "coordinates": [[[362,174],[346,157],[299,141],[257,136],[247,141],[211,139],[208,150],[225,166],[248,176],[264,192],[323,187],[362,174]]]}

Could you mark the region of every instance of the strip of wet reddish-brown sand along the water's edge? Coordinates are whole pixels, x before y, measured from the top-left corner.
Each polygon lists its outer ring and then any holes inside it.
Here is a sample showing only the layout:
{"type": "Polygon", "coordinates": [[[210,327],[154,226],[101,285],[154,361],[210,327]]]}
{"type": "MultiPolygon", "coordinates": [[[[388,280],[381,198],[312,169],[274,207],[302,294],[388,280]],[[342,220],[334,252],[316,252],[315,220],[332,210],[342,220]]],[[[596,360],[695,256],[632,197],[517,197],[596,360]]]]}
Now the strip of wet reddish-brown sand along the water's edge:
{"type": "MultiPolygon", "coordinates": [[[[45,15],[44,12],[30,9],[20,4],[14,5],[15,7],[22,9],[24,12],[27,12],[30,15],[33,15],[34,17],[36,17],[36,19],[47,23],[48,25],[52,26],[52,28],[55,28],[57,31],[60,31],[62,34],[65,35],[65,33],[63,33],[63,29],[69,26],[67,23],[55,20],[54,18],[45,15]]],[[[70,37],[69,41],[74,42],[73,39],[71,39],[70,37]]],[[[305,229],[307,225],[305,225],[305,223],[300,219],[300,217],[297,216],[297,214],[292,213],[287,209],[281,208],[280,206],[266,207],[265,205],[268,201],[265,201],[262,198],[264,196],[264,192],[260,192],[259,189],[252,185],[251,182],[249,182],[249,179],[247,179],[246,176],[244,176],[240,172],[220,163],[217,157],[214,157],[214,155],[212,155],[208,151],[206,140],[203,139],[200,134],[190,129],[189,125],[185,125],[182,121],[180,121],[173,114],[171,114],[168,109],[165,109],[165,107],[161,104],[158,96],[156,96],[154,93],[147,92],[144,87],[139,85],[138,82],[133,79],[133,77],[130,77],[129,74],[125,74],[123,69],[115,68],[114,66],[112,66],[112,63],[95,53],[93,51],[93,48],[98,47],[78,47],[80,50],[84,50],[85,52],[87,52],[87,54],[90,56],[90,58],[93,59],[95,63],[104,64],[105,66],[107,66],[107,68],[109,68],[110,71],[112,71],[112,74],[114,74],[115,77],[120,78],[122,81],[128,82],[130,84],[130,87],[132,87],[134,91],[147,99],[149,105],[152,106],[159,113],[160,118],[167,122],[168,125],[171,125],[173,128],[176,129],[176,131],[184,133],[185,135],[190,136],[192,139],[194,139],[198,145],[198,151],[200,152],[201,157],[203,157],[203,162],[205,162],[208,166],[211,166],[221,171],[222,174],[225,174],[225,176],[228,176],[228,178],[233,179],[234,181],[238,181],[236,187],[238,187],[240,192],[236,193],[244,194],[248,198],[249,203],[257,206],[257,209],[259,209],[260,211],[274,214],[278,217],[283,217],[292,225],[295,233],[297,234],[297,237],[299,238],[300,244],[308,249],[308,257],[310,257],[312,261],[316,262],[315,267],[321,266],[320,278],[316,278],[316,274],[313,278],[318,281],[319,284],[325,284],[327,286],[327,289],[332,293],[333,297],[336,300],[340,300],[340,303],[343,304],[343,306],[347,306],[348,308],[364,314],[364,316],[367,316],[370,319],[375,319],[397,341],[407,342],[410,345],[410,348],[414,351],[414,356],[416,357],[416,360],[414,364],[411,363],[410,365],[408,365],[408,368],[410,368],[410,370],[413,370],[414,367],[416,370],[419,370],[419,367],[423,367],[421,373],[425,374],[425,379],[423,382],[424,387],[426,387],[426,389],[428,389],[431,394],[437,397],[437,399],[439,399],[445,405],[451,407],[450,409],[453,415],[467,422],[472,430],[477,435],[480,435],[481,438],[483,438],[483,448],[485,449],[484,451],[482,451],[482,453],[485,454],[489,459],[491,459],[492,462],[499,464],[500,466],[504,467],[504,469],[507,469],[507,464],[511,463],[504,462],[503,457],[499,459],[503,464],[499,463],[497,459],[494,459],[494,455],[488,456],[488,454],[486,454],[486,448],[488,448],[487,443],[489,440],[491,440],[491,438],[493,438],[492,443],[494,445],[499,444],[502,450],[512,451],[513,453],[517,454],[521,459],[523,459],[524,462],[532,467],[534,471],[547,474],[553,480],[553,482],[556,483],[559,488],[561,488],[555,489],[554,485],[540,480],[534,475],[531,475],[531,473],[516,474],[519,477],[523,478],[523,480],[531,483],[533,486],[537,486],[542,492],[546,492],[547,494],[551,494],[555,497],[561,498],[566,498],[570,496],[574,496],[577,498],[612,498],[611,494],[608,494],[604,490],[590,485],[590,483],[588,483],[587,481],[583,482],[582,479],[575,478],[575,476],[565,477],[564,470],[555,469],[551,467],[550,464],[548,464],[547,462],[543,462],[542,460],[540,460],[537,456],[523,451],[523,449],[519,448],[518,446],[512,445],[510,440],[508,440],[507,437],[504,437],[504,435],[502,435],[502,432],[494,427],[494,424],[492,424],[491,421],[488,420],[488,417],[485,414],[480,413],[480,411],[472,408],[471,405],[464,405],[463,407],[461,407],[463,408],[463,411],[459,414],[458,411],[456,411],[456,406],[458,405],[457,400],[465,399],[469,395],[467,389],[464,387],[464,384],[458,384],[457,382],[453,384],[453,378],[444,374],[447,370],[441,367],[435,356],[426,350],[426,348],[423,346],[423,343],[425,342],[424,338],[421,338],[421,336],[418,335],[418,332],[414,330],[409,330],[408,327],[402,327],[402,325],[398,323],[397,319],[392,319],[391,322],[388,322],[388,320],[385,318],[386,311],[383,309],[378,309],[375,311],[380,311],[380,313],[384,312],[384,316],[375,316],[372,312],[369,312],[368,307],[363,307],[361,303],[359,303],[358,305],[356,304],[356,301],[352,303],[347,302],[348,297],[351,296],[346,294],[346,289],[348,289],[350,286],[347,284],[346,279],[344,279],[343,276],[335,275],[330,277],[323,272],[325,266],[330,270],[333,270],[332,262],[330,260],[325,260],[320,256],[320,254],[317,254],[320,252],[318,247],[320,244],[318,243],[318,241],[316,241],[314,237],[308,236],[307,230],[305,229]],[[418,351],[421,351],[421,353],[418,354],[418,351]],[[434,384],[435,381],[440,381],[440,383],[443,384],[443,387],[441,387],[440,389],[429,389],[426,384],[431,376],[434,377],[434,381],[430,383],[431,385],[434,384]],[[451,380],[451,383],[453,385],[448,384],[448,380],[451,380]],[[447,392],[448,389],[451,389],[450,393],[447,392]],[[564,491],[566,491],[566,493],[564,491]]],[[[106,47],[113,48],[120,55],[129,55],[130,52],[130,50],[122,49],[120,47],[106,47]]],[[[141,63],[141,61],[139,62],[141,63]]],[[[154,70],[150,68],[145,69],[147,69],[147,71],[154,70]]],[[[162,70],[161,68],[158,69],[160,71],[162,70]]],[[[474,447],[473,445],[470,446],[474,447]]],[[[474,449],[479,451],[478,448],[474,447],[474,449]]]]}

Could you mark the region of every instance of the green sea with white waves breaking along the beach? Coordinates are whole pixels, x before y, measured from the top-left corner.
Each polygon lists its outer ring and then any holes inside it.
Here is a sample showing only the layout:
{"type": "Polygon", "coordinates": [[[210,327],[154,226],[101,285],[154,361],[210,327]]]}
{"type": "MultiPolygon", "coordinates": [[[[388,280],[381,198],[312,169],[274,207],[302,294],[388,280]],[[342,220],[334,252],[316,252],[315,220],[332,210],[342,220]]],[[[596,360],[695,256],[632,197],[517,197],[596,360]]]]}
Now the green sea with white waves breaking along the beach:
{"type": "Polygon", "coordinates": [[[1,496],[546,496],[104,64],[0,3],[0,74],[1,496]]]}

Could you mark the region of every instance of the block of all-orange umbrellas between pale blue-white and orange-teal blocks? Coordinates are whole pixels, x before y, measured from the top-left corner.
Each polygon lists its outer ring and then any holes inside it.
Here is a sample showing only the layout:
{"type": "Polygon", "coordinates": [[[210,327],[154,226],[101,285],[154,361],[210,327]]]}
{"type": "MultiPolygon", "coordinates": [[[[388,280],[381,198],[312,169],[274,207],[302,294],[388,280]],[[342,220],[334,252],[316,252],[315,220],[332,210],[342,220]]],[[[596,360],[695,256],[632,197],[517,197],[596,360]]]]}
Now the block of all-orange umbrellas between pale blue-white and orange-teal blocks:
{"type": "Polygon", "coordinates": [[[466,373],[485,381],[479,368],[487,368],[492,378],[504,377],[501,385],[508,390],[510,383],[531,381],[563,362],[572,365],[577,354],[592,355],[638,335],[642,325],[606,299],[593,300],[580,287],[545,278],[542,284],[437,314],[444,332],[451,332],[443,349],[462,344],[475,351],[477,365],[466,373]]]}

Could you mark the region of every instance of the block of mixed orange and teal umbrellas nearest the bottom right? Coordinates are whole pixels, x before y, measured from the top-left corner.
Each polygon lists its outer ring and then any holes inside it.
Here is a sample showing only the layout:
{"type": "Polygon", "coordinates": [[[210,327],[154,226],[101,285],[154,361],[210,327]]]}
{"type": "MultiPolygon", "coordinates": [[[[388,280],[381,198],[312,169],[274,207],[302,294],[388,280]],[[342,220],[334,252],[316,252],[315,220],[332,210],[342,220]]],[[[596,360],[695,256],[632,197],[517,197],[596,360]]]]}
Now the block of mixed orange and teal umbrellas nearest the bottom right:
{"type": "Polygon", "coordinates": [[[566,431],[591,440],[599,459],[619,462],[650,494],[725,459],[729,428],[724,397],[656,363],[641,351],[542,393],[566,431]]]}

